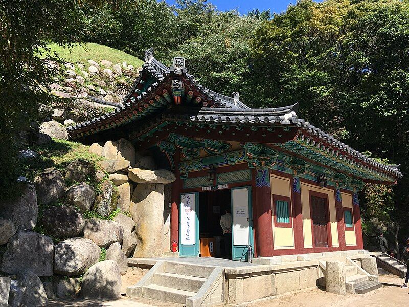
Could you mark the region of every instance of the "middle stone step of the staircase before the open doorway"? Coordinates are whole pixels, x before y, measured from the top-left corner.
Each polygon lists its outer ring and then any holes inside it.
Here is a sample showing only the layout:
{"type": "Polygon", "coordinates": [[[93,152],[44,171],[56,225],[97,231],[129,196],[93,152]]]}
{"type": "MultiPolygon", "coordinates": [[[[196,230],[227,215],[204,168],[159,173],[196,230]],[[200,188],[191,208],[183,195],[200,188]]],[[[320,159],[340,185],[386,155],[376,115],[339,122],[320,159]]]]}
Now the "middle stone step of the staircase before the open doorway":
{"type": "Polygon", "coordinates": [[[206,278],[174,273],[156,273],[153,275],[153,283],[158,286],[172,287],[191,292],[199,291],[205,281],[206,278]]]}

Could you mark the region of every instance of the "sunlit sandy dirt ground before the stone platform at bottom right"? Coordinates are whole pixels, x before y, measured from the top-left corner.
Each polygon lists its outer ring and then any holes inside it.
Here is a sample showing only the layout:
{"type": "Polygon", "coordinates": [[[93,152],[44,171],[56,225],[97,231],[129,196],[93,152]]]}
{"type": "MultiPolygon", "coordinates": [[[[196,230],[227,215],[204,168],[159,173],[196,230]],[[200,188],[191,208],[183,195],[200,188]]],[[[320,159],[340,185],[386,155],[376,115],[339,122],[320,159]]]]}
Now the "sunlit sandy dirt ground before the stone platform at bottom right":
{"type": "Polygon", "coordinates": [[[298,292],[249,304],[248,307],[397,307],[409,306],[409,289],[402,289],[403,279],[394,275],[379,275],[383,287],[367,294],[328,293],[319,289],[298,292]]]}

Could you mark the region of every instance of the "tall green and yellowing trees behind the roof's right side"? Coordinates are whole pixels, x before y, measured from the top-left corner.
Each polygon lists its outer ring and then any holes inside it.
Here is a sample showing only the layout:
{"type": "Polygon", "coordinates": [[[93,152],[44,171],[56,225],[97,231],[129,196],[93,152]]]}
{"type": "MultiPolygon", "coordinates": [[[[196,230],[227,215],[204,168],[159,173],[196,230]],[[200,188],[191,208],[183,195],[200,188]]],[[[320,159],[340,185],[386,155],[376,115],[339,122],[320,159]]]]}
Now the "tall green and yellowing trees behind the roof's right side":
{"type": "Polygon", "coordinates": [[[407,225],[409,2],[302,0],[259,27],[252,51],[253,106],[299,102],[300,117],[402,164],[393,193],[368,188],[363,215],[407,225]]]}

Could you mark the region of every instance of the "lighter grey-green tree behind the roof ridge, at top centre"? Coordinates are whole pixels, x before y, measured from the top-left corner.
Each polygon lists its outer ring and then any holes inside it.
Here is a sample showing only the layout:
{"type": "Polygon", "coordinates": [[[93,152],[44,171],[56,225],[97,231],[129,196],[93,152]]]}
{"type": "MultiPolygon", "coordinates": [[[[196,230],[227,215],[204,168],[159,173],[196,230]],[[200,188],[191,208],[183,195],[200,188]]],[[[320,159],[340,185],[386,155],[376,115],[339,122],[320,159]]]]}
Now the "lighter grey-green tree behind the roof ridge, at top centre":
{"type": "Polygon", "coordinates": [[[238,91],[245,101],[252,92],[244,78],[251,70],[249,41],[260,23],[237,11],[216,14],[200,27],[197,37],[179,45],[175,55],[186,58],[189,71],[201,84],[229,96],[238,91]]]}

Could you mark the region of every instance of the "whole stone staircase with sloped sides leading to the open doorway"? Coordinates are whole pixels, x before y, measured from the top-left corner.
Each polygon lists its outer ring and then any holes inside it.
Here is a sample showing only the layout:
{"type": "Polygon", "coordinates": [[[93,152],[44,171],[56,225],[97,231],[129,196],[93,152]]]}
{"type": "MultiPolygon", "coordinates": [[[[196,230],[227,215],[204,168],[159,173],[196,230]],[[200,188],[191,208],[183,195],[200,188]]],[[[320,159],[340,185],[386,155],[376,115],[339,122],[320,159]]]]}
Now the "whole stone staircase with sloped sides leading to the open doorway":
{"type": "Polygon", "coordinates": [[[211,306],[224,302],[224,269],[158,261],[135,286],[129,297],[149,297],[186,306],[211,306]]]}

